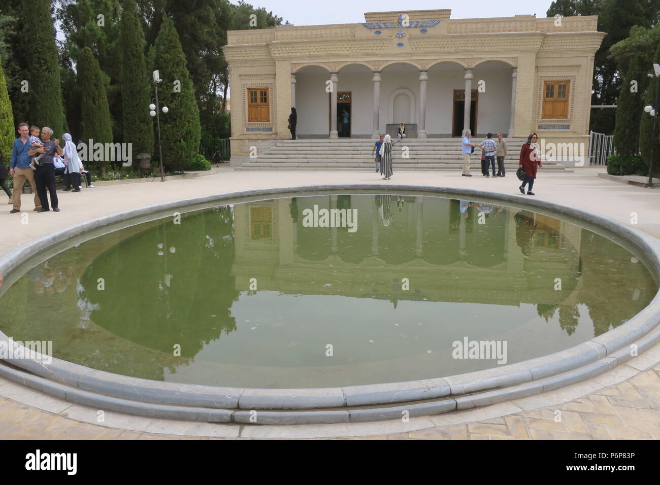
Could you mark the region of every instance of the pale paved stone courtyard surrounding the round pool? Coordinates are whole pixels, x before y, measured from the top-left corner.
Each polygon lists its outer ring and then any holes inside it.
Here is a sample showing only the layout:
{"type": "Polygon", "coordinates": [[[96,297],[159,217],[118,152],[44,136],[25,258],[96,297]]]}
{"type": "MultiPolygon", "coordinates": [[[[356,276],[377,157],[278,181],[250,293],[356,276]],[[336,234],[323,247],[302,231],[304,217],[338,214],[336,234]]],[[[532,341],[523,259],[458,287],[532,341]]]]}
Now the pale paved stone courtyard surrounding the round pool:
{"type": "MultiPolygon", "coordinates": [[[[630,224],[660,238],[659,189],[645,189],[598,178],[602,169],[574,174],[539,172],[539,199],[590,210],[630,224]]],[[[263,187],[383,183],[362,172],[234,172],[160,183],[131,183],[81,193],[61,193],[61,212],[34,214],[30,196],[22,199],[30,222],[20,214],[0,213],[5,230],[2,253],[24,242],[98,216],[166,201],[263,187]],[[94,208],[91,210],[90,208],[94,208]]],[[[517,191],[517,180],[461,178],[459,173],[396,172],[397,184],[470,187],[504,193],[517,191]]],[[[524,197],[524,196],[521,196],[524,197]]],[[[595,379],[552,393],[447,415],[365,424],[310,426],[238,426],[180,422],[106,412],[104,426],[96,410],[60,401],[0,379],[0,437],[20,439],[207,439],[207,438],[344,438],[351,439],[660,439],[660,344],[595,379]],[[558,412],[559,411],[559,412],[558,412]]]]}

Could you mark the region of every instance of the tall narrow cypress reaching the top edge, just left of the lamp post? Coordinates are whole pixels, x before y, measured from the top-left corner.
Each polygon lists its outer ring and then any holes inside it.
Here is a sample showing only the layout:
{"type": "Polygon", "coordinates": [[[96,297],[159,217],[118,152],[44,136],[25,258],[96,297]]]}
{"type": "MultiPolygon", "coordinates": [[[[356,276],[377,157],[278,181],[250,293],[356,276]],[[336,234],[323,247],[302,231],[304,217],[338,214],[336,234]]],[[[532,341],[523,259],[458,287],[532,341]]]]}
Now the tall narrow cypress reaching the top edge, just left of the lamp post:
{"type": "Polygon", "coordinates": [[[135,0],[123,1],[120,29],[123,141],[133,144],[135,159],[139,153],[154,153],[154,128],[149,115],[150,84],[145,63],[145,35],[135,0]]]}

